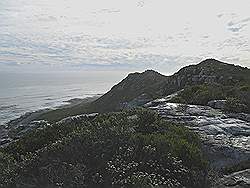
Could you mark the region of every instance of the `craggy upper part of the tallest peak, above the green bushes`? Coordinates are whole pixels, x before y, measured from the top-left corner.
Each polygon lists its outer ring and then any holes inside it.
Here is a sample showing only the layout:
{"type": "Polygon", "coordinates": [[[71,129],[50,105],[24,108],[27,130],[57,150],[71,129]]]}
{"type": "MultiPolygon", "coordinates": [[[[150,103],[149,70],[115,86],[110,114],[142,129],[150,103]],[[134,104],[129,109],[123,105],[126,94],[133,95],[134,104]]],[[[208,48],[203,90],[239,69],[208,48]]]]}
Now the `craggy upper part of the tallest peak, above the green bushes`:
{"type": "Polygon", "coordinates": [[[223,84],[236,85],[250,82],[250,70],[241,66],[223,63],[215,59],[206,59],[197,65],[189,65],[170,76],[165,85],[165,93],[169,88],[182,89],[187,85],[223,84]]]}

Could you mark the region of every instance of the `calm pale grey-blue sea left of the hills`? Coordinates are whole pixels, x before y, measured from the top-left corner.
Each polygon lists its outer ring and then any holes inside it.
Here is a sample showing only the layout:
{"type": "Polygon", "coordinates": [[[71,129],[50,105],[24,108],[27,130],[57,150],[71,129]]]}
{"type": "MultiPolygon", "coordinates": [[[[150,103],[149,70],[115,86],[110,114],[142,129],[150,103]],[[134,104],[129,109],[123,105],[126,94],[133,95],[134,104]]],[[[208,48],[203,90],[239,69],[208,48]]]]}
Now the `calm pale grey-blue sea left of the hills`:
{"type": "Polygon", "coordinates": [[[57,108],[73,98],[107,92],[123,76],[119,72],[0,72],[0,125],[26,112],[57,108]]]}

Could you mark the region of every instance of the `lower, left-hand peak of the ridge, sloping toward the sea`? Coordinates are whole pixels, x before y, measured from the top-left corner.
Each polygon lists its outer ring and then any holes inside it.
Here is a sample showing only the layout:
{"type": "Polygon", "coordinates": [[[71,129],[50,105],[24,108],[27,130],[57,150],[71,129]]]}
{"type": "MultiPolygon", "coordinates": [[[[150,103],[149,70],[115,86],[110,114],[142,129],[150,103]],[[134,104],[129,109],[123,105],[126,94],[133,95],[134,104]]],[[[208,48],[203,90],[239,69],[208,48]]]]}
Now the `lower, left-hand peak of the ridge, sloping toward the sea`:
{"type": "Polygon", "coordinates": [[[167,77],[153,70],[131,73],[102,97],[92,103],[94,109],[113,111],[126,107],[128,102],[138,99],[145,103],[163,94],[162,85],[167,77]]]}

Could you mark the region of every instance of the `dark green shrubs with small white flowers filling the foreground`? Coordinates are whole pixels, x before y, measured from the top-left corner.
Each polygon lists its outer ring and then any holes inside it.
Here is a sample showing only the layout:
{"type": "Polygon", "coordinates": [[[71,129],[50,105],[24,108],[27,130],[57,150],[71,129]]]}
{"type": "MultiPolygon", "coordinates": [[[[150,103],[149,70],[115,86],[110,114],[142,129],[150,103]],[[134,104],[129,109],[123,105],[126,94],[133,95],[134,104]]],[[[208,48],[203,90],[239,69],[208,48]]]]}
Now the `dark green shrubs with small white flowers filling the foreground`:
{"type": "Polygon", "coordinates": [[[148,110],[34,130],[0,150],[1,187],[202,187],[199,137],[148,110]]]}

